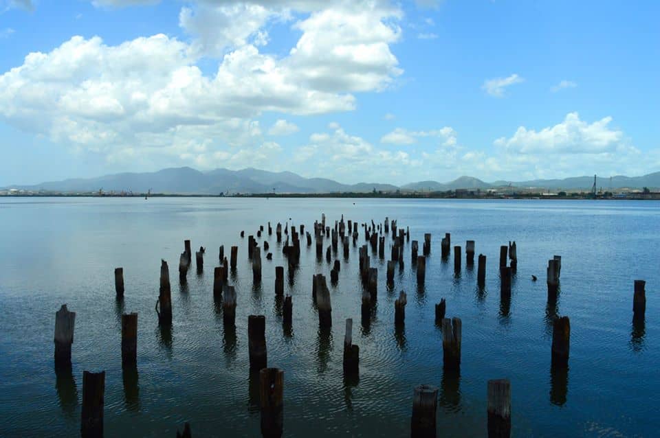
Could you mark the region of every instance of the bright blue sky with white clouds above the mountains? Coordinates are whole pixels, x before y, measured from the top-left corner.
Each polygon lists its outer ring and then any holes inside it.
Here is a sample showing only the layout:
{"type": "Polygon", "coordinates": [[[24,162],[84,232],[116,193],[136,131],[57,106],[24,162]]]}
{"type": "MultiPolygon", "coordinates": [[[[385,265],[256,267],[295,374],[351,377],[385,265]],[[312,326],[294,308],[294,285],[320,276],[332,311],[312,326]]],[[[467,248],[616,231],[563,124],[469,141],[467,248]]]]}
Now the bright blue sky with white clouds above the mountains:
{"type": "Polygon", "coordinates": [[[0,0],[0,186],[660,171],[660,2],[0,0]]]}

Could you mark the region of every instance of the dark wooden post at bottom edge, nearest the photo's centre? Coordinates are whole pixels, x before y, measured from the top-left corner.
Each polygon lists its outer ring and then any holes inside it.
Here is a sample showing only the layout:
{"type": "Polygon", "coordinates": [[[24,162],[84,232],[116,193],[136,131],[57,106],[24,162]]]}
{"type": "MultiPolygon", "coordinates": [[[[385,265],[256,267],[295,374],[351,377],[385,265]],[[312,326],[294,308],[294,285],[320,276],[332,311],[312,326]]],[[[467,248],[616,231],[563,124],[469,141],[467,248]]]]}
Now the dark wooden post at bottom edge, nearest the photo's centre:
{"type": "Polygon", "coordinates": [[[284,371],[264,368],[259,371],[261,398],[261,436],[280,438],[284,423],[284,371]]]}

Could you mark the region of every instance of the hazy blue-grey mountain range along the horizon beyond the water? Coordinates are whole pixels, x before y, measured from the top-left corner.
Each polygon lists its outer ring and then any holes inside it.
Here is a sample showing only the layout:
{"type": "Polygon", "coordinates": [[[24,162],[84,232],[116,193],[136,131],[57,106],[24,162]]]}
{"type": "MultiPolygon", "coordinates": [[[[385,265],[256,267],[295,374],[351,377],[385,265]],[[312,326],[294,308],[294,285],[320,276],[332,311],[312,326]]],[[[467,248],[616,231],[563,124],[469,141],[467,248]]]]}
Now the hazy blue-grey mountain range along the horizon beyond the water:
{"type": "MultiPolygon", "coordinates": [[[[397,187],[382,183],[342,184],[327,178],[305,178],[294,172],[268,172],[247,168],[243,170],[216,169],[199,172],[192,168],[169,168],[157,172],[120,173],[98,178],[72,178],[36,185],[12,185],[5,189],[23,189],[32,192],[134,192],[162,194],[233,194],[233,193],[331,193],[331,192],[439,192],[455,189],[489,189],[496,187],[520,187],[538,189],[582,189],[588,191],[593,185],[593,176],[577,176],[564,179],[542,179],[533,181],[494,181],[485,183],[472,176],[461,176],[448,183],[419,181],[397,187]]],[[[596,186],[608,189],[641,189],[660,187],[660,172],[643,176],[613,176],[597,178],[596,186]]]]}

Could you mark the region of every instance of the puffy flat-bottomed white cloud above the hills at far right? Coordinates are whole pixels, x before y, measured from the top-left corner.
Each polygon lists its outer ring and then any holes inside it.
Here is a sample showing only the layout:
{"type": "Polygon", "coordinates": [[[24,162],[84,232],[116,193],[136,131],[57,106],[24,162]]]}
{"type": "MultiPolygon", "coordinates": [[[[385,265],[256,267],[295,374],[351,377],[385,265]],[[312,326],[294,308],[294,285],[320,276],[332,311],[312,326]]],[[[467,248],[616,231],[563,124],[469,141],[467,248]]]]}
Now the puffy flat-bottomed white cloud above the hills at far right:
{"type": "Polygon", "coordinates": [[[612,117],[604,117],[588,124],[577,113],[569,113],[560,124],[540,131],[520,126],[512,137],[500,137],[495,145],[520,154],[600,154],[630,148],[624,133],[610,128],[610,122],[612,117]]]}

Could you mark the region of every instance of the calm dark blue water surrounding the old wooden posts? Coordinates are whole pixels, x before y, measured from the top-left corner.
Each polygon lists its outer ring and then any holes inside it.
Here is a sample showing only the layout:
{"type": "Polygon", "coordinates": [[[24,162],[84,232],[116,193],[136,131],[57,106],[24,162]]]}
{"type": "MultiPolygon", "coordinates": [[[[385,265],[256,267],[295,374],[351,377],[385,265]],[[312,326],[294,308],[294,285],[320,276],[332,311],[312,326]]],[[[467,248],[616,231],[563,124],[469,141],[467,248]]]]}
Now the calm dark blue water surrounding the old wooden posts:
{"type": "MultiPolygon", "coordinates": [[[[108,437],[173,437],[184,421],[197,437],[259,436],[258,393],[248,373],[248,315],[266,316],[268,363],[285,371],[285,436],[405,437],[412,388],[439,387],[442,436],[483,437],[486,382],[511,380],[514,435],[657,436],[660,417],[660,203],[544,200],[348,200],[222,198],[0,198],[0,436],[77,435],[83,370],[106,370],[108,437]],[[312,230],[321,213],[329,224],[345,218],[396,218],[411,240],[432,233],[426,286],[410,266],[395,288],[378,268],[378,299],[371,325],[360,324],[358,248],[342,260],[331,286],[333,328],[318,332],[311,276],[331,266],[302,246],[294,283],[294,323],[283,332],[274,297],[275,266],[285,264],[275,236],[273,260],[263,259],[263,281],[253,286],[248,234],[288,218],[312,230]],[[239,231],[245,230],[245,238],[239,231]],[[487,284],[476,288],[476,268],[453,273],[442,262],[440,240],[476,240],[487,255],[487,284]],[[205,270],[177,276],[183,241],[206,246],[205,270]],[[518,273],[509,308],[500,306],[500,244],[516,240],[518,273]],[[239,246],[235,333],[223,329],[212,295],[218,247],[239,246]],[[566,374],[550,369],[553,309],[547,306],[545,267],[562,255],[556,312],[571,318],[566,374]],[[162,333],[154,304],[160,260],[170,265],[173,329],[162,333]],[[115,300],[113,268],[124,267],[125,299],[115,300]],[[539,281],[531,281],[537,275],[539,281]],[[632,282],[646,279],[646,325],[632,326],[632,282]],[[408,292],[404,330],[394,327],[394,300],[408,292]],[[460,376],[443,374],[441,332],[434,303],[463,320],[460,376]],[[72,375],[56,376],[54,313],[63,303],[77,312],[72,375]],[[122,375],[120,318],[138,312],[137,376],[122,375]],[[344,319],[354,319],[360,380],[344,382],[344,319]]],[[[389,246],[391,239],[386,240],[389,246]]],[[[364,243],[360,233],[358,244],[364,243]]],[[[327,246],[327,241],[326,241],[327,246]]],[[[339,247],[342,251],[341,244],[339,247]]],[[[386,248],[386,255],[389,255],[386,248]]],[[[325,252],[324,252],[325,253],[325,252]]],[[[421,253],[421,243],[420,243],[421,253]]],[[[476,258],[476,257],[475,257],[476,258]]],[[[463,263],[465,255],[463,254],[463,263]]]]}

